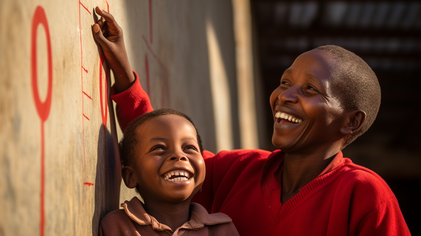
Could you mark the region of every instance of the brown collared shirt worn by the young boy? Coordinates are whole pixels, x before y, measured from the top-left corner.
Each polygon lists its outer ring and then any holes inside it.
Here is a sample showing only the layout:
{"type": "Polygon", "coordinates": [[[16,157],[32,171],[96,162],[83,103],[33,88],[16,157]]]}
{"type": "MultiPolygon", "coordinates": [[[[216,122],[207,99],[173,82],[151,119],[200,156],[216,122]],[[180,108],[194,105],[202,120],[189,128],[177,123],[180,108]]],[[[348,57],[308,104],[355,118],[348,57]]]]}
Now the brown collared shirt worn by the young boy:
{"type": "Polygon", "coordinates": [[[190,220],[175,231],[159,223],[142,207],[137,197],[121,204],[124,209],[108,213],[99,225],[99,235],[124,236],[236,236],[237,229],[224,213],[208,214],[200,204],[190,204],[190,220]]]}

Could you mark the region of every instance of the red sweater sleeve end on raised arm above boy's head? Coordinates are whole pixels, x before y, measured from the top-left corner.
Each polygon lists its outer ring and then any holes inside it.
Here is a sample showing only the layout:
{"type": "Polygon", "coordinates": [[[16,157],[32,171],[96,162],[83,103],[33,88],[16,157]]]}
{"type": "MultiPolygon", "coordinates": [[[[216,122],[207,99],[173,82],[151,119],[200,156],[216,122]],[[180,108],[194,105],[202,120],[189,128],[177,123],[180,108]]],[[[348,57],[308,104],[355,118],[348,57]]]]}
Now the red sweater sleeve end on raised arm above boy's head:
{"type": "Polygon", "coordinates": [[[126,91],[116,94],[114,86],[111,88],[111,99],[117,103],[117,119],[121,129],[139,115],[153,111],[151,100],[139,82],[139,76],[133,71],[135,81],[126,91]]]}

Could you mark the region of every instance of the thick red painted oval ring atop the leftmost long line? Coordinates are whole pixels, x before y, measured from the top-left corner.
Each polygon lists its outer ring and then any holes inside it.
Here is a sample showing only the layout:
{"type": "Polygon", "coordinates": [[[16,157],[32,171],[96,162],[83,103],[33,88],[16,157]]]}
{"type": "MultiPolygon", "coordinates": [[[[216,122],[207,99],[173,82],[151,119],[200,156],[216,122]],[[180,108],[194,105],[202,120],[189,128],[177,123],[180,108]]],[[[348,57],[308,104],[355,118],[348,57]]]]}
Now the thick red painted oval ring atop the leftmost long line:
{"type": "Polygon", "coordinates": [[[50,31],[48,30],[47,17],[45,16],[44,9],[41,6],[37,6],[35,9],[34,17],[32,18],[32,50],[31,50],[31,59],[32,59],[32,91],[34,95],[35,106],[37,107],[38,115],[41,118],[41,121],[44,122],[48,118],[51,107],[51,90],[53,83],[53,62],[51,58],[51,40],[50,40],[50,31]],[[48,89],[47,89],[47,99],[44,102],[41,102],[40,95],[38,94],[38,84],[37,84],[37,27],[38,24],[42,24],[45,30],[45,36],[47,38],[47,55],[48,55],[48,89]]]}

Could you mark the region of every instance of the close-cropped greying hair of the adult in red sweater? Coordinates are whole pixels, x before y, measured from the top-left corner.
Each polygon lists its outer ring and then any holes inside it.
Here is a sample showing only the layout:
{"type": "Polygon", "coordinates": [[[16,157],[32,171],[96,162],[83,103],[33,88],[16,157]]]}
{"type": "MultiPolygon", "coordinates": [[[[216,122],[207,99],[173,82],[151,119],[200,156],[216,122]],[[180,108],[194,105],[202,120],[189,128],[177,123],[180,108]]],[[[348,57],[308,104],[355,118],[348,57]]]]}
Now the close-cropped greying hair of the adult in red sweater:
{"type": "Polygon", "coordinates": [[[346,140],[342,147],[345,148],[376,120],[381,100],[380,85],[371,67],[353,52],[335,45],[320,46],[314,50],[328,53],[339,62],[331,68],[331,79],[345,109],[362,110],[367,115],[360,131],[346,140]]]}

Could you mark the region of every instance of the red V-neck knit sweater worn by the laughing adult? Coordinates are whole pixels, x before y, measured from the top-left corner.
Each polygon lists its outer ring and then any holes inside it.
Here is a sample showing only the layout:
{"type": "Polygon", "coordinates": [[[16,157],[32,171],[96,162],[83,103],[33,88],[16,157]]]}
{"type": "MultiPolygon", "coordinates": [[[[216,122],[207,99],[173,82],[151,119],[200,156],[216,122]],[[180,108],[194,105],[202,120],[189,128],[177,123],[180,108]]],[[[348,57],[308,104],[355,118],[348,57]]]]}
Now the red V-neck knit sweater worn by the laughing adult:
{"type": "MultiPolygon", "coordinates": [[[[115,94],[117,118],[124,130],[152,111],[137,74],[131,88],[115,94]]],[[[242,236],[256,235],[410,235],[396,197],[373,171],[339,152],[326,169],[295,196],[281,203],[284,154],[264,150],[203,152],[206,178],[193,202],[209,213],[232,218],[242,236]]]]}

